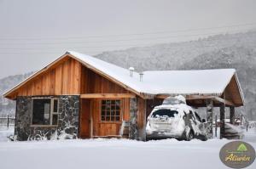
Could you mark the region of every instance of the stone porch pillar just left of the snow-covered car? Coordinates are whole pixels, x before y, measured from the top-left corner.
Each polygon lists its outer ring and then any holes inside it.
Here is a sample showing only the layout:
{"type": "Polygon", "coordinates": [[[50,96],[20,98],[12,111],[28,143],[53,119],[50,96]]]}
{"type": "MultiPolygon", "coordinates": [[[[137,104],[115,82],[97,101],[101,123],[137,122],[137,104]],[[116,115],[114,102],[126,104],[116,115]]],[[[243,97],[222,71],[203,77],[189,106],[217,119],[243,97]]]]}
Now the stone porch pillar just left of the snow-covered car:
{"type": "Polygon", "coordinates": [[[130,127],[129,138],[137,139],[137,98],[130,99],[130,127]]]}

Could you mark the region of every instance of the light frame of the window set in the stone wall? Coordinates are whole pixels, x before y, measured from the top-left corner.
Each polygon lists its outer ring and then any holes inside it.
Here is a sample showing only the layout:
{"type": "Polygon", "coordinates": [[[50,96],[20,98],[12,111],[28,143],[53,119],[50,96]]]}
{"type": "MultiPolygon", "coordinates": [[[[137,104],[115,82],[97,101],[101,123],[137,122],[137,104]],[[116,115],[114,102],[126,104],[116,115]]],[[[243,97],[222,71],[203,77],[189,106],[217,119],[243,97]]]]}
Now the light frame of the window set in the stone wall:
{"type": "Polygon", "coordinates": [[[32,115],[31,115],[31,127],[58,127],[59,125],[59,108],[60,108],[60,100],[58,98],[51,98],[51,97],[44,97],[44,98],[32,98],[32,115]],[[42,124],[33,124],[33,103],[35,99],[49,99],[50,105],[49,105],[49,124],[48,125],[42,125],[42,124]],[[54,112],[54,101],[57,100],[57,112],[54,112]],[[53,115],[58,115],[57,124],[53,125],[53,115]]]}

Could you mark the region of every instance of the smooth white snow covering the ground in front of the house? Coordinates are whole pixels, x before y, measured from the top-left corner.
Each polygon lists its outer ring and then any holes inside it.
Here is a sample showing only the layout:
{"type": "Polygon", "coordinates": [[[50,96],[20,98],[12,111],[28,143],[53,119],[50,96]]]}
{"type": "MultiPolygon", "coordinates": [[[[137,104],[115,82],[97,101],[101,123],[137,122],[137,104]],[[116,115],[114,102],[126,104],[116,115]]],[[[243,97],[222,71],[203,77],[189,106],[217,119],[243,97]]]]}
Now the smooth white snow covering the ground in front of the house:
{"type": "MultiPolygon", "coordinates": [[[[255,131],[245,141],[256,149],[255,131]]],[[[219,160],[229,140],[190,142],[166,139],[138,142],[126,139],[59,140],[0,143],[0,168],[228,168],[219,160]]],[[[256,161],[248,168],[256,168],[256,161]]]]}

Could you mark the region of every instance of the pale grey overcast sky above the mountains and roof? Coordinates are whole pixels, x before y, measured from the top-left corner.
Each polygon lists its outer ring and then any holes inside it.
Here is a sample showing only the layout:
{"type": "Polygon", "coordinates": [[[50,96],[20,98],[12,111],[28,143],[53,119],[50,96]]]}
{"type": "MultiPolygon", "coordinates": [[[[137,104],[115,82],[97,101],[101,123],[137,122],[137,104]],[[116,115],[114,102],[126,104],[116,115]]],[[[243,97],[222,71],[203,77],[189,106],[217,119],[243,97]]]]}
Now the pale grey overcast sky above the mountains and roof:
{"type": "Polygon", "coordinates": [[[0,78],[67,50],[93,55],[246,31],[255,8],[255,0],[0,0],[0,78]]]}

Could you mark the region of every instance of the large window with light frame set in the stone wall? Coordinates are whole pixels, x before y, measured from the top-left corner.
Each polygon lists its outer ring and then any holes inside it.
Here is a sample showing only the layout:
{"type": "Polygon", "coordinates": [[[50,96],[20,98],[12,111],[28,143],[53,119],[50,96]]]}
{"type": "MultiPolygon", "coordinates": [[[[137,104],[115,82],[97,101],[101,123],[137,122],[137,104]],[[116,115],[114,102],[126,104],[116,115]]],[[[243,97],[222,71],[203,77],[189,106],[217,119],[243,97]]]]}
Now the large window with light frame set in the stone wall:
{"type": "Polygon", "coordinates": [[[32,125],[57,125],[58,106],[58,99],[33,99],[32,125]]]}

